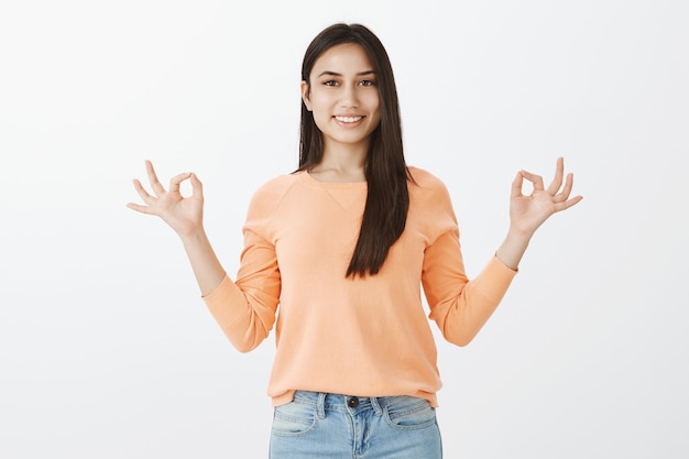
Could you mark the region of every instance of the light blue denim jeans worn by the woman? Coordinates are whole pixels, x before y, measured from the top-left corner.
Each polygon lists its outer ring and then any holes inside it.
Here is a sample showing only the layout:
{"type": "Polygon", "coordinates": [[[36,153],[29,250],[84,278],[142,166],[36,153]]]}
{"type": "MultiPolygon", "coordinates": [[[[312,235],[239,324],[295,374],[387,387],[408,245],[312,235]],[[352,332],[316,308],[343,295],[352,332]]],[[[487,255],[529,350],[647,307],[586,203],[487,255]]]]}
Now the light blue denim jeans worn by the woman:
{"type": "Polygon", "coordinates": [[[440,459],[436,411],[412,396],[297,391],[276,406],[271,459],[440,459]]]}

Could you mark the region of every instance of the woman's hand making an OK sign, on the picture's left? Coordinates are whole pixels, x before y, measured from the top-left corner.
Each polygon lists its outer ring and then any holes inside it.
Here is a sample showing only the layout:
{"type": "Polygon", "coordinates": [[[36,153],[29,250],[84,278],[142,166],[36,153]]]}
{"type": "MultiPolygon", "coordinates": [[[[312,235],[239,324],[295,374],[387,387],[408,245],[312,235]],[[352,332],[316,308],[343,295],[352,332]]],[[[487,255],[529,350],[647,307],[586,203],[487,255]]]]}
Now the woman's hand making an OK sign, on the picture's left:
{"type": "Polygon", "coordinates": [[[146,161],[146,172],[153,195],[134,178],[134,188],[145,205],[129,203],[127,207],[141,214],[161,217],[181,238],[203,230],[204,187],[196,174],[187,172],[174,176],[169,181],[169,189],[165,190],[150,161],[146,161]],[[179,185],[186,179],[192,183],[192,195],[188,197],[182,196],[179,192],[179,185]]]}

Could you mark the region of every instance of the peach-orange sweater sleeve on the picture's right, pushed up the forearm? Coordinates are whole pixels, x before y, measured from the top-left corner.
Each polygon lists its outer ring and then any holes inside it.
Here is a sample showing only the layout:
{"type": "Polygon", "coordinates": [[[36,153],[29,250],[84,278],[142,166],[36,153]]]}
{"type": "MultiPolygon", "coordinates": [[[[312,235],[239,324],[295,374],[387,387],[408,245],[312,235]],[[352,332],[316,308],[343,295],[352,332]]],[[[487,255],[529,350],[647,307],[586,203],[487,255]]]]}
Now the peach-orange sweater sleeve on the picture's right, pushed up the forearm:
{"type": "Polygon", "coordinates": [[[433,203],[429,206],[438,215],[427,221],[437,223],[435,231],[439,236],[426,248],[422,272],[429,318],[436,321],[445,339],[466,346],[497,308],[516,271],[493,255],[483,271],[469,280],[457,219],[445,186],[435,193],[433,203]]]}

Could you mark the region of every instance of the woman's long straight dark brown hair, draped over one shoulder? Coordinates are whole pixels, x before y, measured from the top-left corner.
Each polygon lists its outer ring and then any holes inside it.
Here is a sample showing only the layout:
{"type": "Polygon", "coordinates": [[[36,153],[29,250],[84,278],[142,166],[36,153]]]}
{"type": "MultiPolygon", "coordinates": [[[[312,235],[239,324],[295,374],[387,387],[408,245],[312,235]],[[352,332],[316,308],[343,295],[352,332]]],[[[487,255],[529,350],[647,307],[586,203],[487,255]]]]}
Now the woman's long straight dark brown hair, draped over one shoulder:
{"type": "MultiPolygon", "coordinates": [[[[302,64],[302,80],[308,85],[314,64],[330,47],[356,43],[367,53],[375,72],[380,98],[381,120],[371,133],[364,163],[368,183],[367,204],[361,221],[359,240],[352,254],[347,277],[376,274],[390,248],[404,231],[409,193],[407,179],[413,181],[404,160],[402,122],[397,89],[392,65],[381,41],[361,24],[333,24],[321,31],[309,44],[302,64]]],[[[308,171],[322,160],[322,134],[313,113],[302,102],[299,135],[299,167],[308,171]]]]}

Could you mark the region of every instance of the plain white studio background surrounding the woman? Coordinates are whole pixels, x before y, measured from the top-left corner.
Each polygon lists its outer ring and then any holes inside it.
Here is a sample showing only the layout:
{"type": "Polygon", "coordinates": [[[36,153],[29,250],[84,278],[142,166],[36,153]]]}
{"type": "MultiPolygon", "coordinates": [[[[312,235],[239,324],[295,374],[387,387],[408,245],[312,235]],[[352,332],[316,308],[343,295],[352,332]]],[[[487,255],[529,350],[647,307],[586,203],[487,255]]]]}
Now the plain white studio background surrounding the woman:
{"type": "Polygon", "coordinates": [[[0,457],[266,457],[273,336],[237,352],[174,233],[124,205],[144,159],[195,171],[233,274],[251,194],[296,167],[303,53],[343,21],[390,53],[470,275],[518,168],[562,155],[584,196],[469,347],[438,340],[446,457],[686,458],[688,4],[3,2],[0,457]]]}

